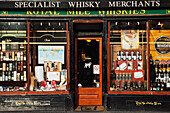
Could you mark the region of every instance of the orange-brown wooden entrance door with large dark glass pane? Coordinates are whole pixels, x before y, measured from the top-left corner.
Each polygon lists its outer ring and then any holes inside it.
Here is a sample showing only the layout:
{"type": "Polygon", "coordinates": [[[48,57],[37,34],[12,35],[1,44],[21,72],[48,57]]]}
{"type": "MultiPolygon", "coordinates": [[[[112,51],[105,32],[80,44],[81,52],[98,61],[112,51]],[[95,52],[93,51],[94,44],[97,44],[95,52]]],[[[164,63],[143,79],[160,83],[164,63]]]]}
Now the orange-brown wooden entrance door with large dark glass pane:
{"type": "Polygon", "coordinates": [[[75,39],[75,105],[102,105],[102,38],[75,39]]]}

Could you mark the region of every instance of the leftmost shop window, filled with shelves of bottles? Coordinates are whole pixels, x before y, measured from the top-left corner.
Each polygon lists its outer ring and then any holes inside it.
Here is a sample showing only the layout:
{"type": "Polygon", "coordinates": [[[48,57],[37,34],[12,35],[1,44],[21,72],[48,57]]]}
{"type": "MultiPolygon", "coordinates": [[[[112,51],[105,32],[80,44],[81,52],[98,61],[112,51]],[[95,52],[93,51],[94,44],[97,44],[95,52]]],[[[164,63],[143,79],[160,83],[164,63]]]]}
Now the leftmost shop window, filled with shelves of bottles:
{"type": "Polygon", "coordinates": [[[27,24],[0,22],[0,91],[27,90],[27,24]]]}

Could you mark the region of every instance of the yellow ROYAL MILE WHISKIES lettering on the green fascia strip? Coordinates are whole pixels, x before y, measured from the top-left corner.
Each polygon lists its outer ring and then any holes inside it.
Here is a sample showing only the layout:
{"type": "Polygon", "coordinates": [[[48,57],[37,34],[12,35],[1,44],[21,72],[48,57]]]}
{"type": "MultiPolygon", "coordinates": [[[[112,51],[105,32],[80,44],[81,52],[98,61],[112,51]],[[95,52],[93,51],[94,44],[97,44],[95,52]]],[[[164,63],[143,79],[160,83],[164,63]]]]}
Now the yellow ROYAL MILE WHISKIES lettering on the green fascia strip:
{"type": "MultiPolygon", "coordinates": [[[[7,13],[6,13],[7,14],[7,13]]],[[[145,14],[145,10],[108,10],[97,11],[97,15],[145,14]]],[[[27,15],[62,15],[62,11],[27,11],[27,15]]],[[[66,15],[93,15],[91,11],[66,11],[66,15]]]]}

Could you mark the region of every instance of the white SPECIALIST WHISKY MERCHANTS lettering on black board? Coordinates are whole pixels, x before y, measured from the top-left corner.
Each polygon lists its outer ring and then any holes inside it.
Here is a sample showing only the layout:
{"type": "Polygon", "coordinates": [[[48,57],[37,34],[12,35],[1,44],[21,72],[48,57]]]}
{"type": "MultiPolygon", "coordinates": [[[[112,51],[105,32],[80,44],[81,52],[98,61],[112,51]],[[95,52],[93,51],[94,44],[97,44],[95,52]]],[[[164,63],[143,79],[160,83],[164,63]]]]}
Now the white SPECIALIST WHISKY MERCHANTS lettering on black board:
{"type": "Polygon", "coordinates": [[[62,5],[68,8],[100,8],[105,7],[160,7],[160,0],[146,0],[146,1],[76,1],[76,2],[61,2],[61,1],[26,1],[15,2],[15,8],[60,8],[62,5]]]}

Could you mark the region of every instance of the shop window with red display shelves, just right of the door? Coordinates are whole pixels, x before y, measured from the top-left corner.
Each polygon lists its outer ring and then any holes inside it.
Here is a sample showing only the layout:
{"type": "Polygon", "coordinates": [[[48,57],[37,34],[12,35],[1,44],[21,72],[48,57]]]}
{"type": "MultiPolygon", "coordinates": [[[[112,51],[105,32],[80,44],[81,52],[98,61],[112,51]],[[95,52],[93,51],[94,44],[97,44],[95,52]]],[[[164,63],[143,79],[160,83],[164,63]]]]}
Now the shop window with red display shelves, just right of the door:
{"type": "Polygon", "coordinates": [[[109,22],[109,91],[147,91],[145,21],[109,22]]]}

